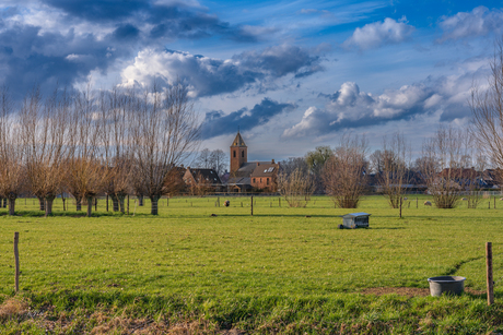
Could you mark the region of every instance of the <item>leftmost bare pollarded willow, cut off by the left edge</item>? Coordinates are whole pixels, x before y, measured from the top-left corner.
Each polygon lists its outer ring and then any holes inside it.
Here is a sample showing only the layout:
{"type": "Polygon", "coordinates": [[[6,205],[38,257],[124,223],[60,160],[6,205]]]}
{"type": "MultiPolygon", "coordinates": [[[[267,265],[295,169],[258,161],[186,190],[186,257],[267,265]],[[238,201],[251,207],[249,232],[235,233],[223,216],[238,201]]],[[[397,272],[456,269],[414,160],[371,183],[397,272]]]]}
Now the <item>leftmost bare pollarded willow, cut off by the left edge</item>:
{"type": "Polygon", "coordinates": [[[9,200],[9,215],[15,214],[15,200],[25,188],[24,149],[14,125],[9,89],[0,88],[0,196],[9,200]]]}

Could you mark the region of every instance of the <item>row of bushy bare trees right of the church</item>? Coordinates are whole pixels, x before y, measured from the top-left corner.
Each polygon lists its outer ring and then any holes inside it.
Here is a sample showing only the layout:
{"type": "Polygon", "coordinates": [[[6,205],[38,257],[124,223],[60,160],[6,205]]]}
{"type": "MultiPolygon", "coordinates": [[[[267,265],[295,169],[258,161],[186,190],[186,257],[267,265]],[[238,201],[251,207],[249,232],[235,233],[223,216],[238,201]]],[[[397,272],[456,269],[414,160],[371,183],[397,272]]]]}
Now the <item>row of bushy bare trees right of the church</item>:
{"type": "Polygon", "coordinates": [[[283,161],[279,187],[286,200],[295,200],[295,206],[305,205],[297,199],[303,194],[308,199],[314,192],[318,170],[325,192],[343,208],[358,207],[371,184],[393,208],[398,208],[410,188],[418,184],[428,189],[440,208],[455,207],[461,198],[469,207],[477,207],[482,199],[486,159],[471,132],[441,127],[423,142],[422,156],[414,163],[411,156],[411,146],[400,133],[384,136],[383,148],[369,156],[364,137],[343,135],[335,149],[318,147],[304,158],[283,161]],[[327,153],[326,158],[323,153],[327,153]],[[316,170],[309,169],[314,157],[316,170]]]}

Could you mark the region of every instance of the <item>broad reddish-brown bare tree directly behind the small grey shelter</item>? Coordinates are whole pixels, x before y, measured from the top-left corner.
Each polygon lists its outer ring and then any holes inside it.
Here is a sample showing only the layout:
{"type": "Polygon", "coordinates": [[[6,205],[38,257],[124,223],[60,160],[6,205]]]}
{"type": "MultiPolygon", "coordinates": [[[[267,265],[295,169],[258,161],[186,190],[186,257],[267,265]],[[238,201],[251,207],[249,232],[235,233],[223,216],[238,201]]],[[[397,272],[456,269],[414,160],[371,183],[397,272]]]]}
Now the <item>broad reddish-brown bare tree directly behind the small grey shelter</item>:
{"type": "Polygon", "coordinates": [[[356,208],[366,189],[366,141],[344,135],[325,164],[323,180],[328,194],[341,208],[356,208]]]}

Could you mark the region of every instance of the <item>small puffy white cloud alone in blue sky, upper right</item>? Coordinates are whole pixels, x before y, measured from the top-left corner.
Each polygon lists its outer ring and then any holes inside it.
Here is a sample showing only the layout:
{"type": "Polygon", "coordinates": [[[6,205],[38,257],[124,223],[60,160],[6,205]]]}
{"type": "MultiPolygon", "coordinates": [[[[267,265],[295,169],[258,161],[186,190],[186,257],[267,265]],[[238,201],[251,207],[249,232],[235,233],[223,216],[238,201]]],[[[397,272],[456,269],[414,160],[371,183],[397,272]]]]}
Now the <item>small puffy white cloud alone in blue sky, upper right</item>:
{"type": "Polygon", "coordinates": [[[407,24],[405,16],[399,21],[386,17],[384,22],[370,23],[362,28],[356,28],[342,46],[365,50],[382,45],[398,44],[408,39],[413,31],[414,27],[407,24]]]}

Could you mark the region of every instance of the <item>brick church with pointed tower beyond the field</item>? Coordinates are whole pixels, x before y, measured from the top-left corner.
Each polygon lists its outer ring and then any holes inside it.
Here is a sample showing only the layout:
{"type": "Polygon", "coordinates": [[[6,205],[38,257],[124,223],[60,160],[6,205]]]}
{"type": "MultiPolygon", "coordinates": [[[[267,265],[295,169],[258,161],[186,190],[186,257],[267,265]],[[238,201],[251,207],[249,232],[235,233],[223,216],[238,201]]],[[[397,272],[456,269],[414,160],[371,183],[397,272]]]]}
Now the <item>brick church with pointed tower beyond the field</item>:
{"type": "Polygon", "coordinates": [[[280,165],[271,161],[248,161],[248,147],[237,132],[231,144],[231,172],[227,192],[277,192],[280,165]]]}

